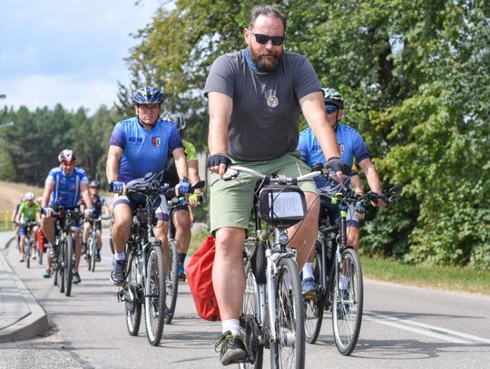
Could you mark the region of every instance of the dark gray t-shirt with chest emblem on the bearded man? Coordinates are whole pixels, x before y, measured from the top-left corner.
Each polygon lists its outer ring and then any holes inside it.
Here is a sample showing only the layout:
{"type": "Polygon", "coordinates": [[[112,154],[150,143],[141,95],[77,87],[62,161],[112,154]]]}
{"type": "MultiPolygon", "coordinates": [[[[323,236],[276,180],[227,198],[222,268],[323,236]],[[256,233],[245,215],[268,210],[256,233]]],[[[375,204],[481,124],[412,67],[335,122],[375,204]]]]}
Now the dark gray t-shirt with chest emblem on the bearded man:
{"type": "Polygon", "coordinates": [[[275,71],[253,72],[243,50],[221,55],[211,65],[204,93],[233,100],[228,151],[236,160],[272,160],[295,151],[299,140],[299,100],[321,91],[308,59],[284,52],[275,71]]]}

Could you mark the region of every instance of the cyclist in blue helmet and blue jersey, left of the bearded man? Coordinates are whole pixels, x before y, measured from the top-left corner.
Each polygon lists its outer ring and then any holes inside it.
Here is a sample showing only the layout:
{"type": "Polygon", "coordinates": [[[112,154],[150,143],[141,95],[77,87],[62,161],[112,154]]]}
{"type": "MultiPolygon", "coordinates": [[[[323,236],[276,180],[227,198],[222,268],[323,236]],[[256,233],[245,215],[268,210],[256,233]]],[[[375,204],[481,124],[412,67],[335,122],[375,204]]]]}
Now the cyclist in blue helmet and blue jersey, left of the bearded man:
{"type": "MultiPolygon", "coordinates": [[[[177,192],[184,194],[190,189],[179,131],[171,121],[159,119],[163,93],[152,87],[144,87],[134,93],[132,100],[135,103],[136,116],[115,125],[106,166],[109,190],[116,193],[113,200],[114,259],[111,273],[111,280],[116,286],[124,281],[124,246],[130,236],[132,210],[139,203],[145,202],[142,196],[126,195],[126,185],[162,181],[167,155],[171,151],[180,179],[176,186],[177,192]]],[[[168,259],[166,246],[169,211],[163,196],[155,206],[158,222],[153,230],[155,237],[162,242],[163,256],[168,259]]]]}

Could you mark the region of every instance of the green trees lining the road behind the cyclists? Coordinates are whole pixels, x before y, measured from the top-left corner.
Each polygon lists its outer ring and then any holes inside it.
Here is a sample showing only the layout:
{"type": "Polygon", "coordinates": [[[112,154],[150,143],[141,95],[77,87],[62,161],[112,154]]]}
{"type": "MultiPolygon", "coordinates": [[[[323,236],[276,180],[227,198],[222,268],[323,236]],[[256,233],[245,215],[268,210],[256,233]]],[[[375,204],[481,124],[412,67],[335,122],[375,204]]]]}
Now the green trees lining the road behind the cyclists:
{"type": "MultiPolygon", "coordinates": [[[[345,122],[367,142],[385,189],[404,187],[392,207],[370,211],[361,227],[361,252],[412,263],[490,268],[490,3],[270,3],[289,15],[286,50],[306,55],[323,86],[342,93],[345,122]]],[[[164,88],[165,108],[185,112],[186,138],[205,150],[208,120],[201,91],[207,73],[218,55],[245,47],[242,29],[260,2],[174,4],[171,10],[158,9],[135,34],[138,44],[126,58],[132,82],[120,85],[114,109],[93,117],[61,107],[4,112],[31,119],[26,127],[31,134],[40,124],[51,134],[38,130],[40,139],[0,132],[7,152],[0,153],[0,175],[22,172],[22,179],[39,180],[39,170],[25,167],[31,165],[29,158],[51,158],[53,165],[54,156],[44,153],[63,140],[78,142],[91,174],[103,172],[111,119],[132,114],[132,92],[144,84],[164,88]],[[54,129],[58,126],[63,131],[54,129]],[[99,133],[93,139],[95,130],[99,133]],[[16,140],[23,149],[14,149],[16,140]],[[48,142],[38,148],[39,140],[48,142]]]]}

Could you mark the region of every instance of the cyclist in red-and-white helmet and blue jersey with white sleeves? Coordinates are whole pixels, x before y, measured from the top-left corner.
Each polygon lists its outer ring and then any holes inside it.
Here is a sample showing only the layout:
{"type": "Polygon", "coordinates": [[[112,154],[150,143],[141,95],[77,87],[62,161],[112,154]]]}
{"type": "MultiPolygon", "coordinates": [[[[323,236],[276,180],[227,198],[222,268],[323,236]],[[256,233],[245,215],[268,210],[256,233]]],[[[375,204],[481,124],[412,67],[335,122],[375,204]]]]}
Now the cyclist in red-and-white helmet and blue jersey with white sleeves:
{"type": "MultiPolygon", "coordinates": [[[[65,149],[58,155],[59,167],[55,167],[49,171],[49,174],[44,182],[44,193],[41,201],[41,207],[44,209],[44,214],[41,219],[41,229],[48,243],[45,245],[50,248],[48,254],[47,267],[44,272],[44,277],[51,277],[51,265],[53,257],[57,255],[56,245],[54,245],[54,220],[52,217],[53,211],[60,207],[65,210],[78,209],[80,198],[82,197],[87,205],[85,216],[89,216],[92,212],[92,199],[88,192],[88,178],[85,170],[75,167],[76,156],[73,151],[65,149]]],[[[79,227],[82,224],[80,222],[79,227]]],[[[80,256],[82,254],[80,229],[75,232],[75,267],[73,268],[73,283],[81,282],[78,274],[78,266],[80,264],[80,256]]]]}

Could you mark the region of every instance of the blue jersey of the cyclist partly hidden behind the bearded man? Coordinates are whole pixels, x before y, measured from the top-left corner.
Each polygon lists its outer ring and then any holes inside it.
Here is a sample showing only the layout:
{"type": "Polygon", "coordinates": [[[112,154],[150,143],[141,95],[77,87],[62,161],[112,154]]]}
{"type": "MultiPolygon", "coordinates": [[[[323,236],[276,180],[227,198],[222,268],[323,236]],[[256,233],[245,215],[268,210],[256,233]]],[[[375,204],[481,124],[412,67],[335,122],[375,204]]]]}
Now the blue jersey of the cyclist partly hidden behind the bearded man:
{"type": "MultiPolygon", "coordinates": [[[[359,132],[345,124],[338,123],[335,131],[335,138],[338,143],[340,151],[340,158],[348,163],[349,167],[352,167],[354,158],[357,162],[369,158],[368,148],[366,143],[362,140],[359,132]]],[[[325,156],[319,146],[319,141],[313,134],[310,128],[299,133],[298,150],[301,153],[301,160],[303,160],[309,167],[314,164],[325,164],[325,156]]],[[[317,187],[319,189],[324,188],[327,184],[325,179],[315,179],[317,187]]],[[[348,185],[348,181],[344,185],[348,185]]],[[[328,186],[328,190],[339,189],[339,186],[328,186]]]]}

